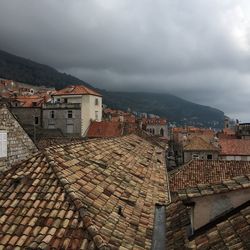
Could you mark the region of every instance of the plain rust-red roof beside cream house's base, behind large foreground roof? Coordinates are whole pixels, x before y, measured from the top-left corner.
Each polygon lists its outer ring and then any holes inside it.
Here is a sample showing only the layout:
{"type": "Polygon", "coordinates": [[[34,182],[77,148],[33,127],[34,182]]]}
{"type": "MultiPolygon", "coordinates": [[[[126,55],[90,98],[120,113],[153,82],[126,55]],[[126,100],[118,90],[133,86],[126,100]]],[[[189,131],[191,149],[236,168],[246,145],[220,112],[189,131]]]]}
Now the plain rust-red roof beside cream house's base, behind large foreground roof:
{"type": "Polygon", "coordinates": [[[90,124],[87,137],[118,137],[122,135],[122,126],[120,122],[114,121],[101,121],[92,122],[90,124]]]}

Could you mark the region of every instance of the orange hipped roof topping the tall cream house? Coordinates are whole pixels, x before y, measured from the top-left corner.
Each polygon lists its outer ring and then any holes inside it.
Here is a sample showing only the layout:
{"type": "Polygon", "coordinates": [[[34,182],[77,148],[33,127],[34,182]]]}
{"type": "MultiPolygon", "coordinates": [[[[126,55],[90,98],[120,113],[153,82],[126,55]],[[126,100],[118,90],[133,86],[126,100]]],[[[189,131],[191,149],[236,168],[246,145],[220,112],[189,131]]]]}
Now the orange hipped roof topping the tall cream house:
{"type": "Polygon", "coordinates": [[[101,94],[95,92],[92,89],[89,89],[83,85],[72,85],[68,86],[64,89],[58,90],[53,95],[95,95],[95,96],[102,96],[101,94]]]}

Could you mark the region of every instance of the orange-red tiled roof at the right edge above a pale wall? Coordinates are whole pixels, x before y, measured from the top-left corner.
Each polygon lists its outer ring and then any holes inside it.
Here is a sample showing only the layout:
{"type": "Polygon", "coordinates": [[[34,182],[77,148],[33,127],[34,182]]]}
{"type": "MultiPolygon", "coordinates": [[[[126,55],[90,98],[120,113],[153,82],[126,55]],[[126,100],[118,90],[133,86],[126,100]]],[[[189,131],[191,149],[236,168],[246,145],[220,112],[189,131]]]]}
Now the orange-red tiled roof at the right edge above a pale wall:
{"type": "Polygon", "coordinates": [[[250,155],[250,140],[224,139],[219,143],[221,155],[250,155]]]}

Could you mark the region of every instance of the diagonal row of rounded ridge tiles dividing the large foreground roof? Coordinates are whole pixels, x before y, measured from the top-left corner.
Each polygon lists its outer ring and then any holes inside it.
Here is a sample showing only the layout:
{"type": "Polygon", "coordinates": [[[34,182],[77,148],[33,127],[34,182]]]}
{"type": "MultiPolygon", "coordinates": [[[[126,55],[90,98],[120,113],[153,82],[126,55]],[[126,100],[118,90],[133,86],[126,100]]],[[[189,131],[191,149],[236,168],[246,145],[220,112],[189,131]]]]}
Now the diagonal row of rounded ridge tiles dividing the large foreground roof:
{"type": "Polygon", "coordinates": [[[96,247],[100,250],[110,250],[111,247],[106,242],[106,240],[103,239],[102,235],[98,233],[98,230],[93,223],[92,218],[87,213],[86,205],[81,201],[81,199],[78,198],[75,191],[70,187],[68,180],[61,174],[61,171],[58,169],[53,157],[49,154],[47,149],[45,150],[44,154],[48,160],[48,164],[51,166],[54,174],[58,178],[59,183],[63,186],[66,194],[73,201],[75,207],[77,208],[79,215],[82,218],[83,224],[85,225],[89,235],[92,237],[96,247]]]}

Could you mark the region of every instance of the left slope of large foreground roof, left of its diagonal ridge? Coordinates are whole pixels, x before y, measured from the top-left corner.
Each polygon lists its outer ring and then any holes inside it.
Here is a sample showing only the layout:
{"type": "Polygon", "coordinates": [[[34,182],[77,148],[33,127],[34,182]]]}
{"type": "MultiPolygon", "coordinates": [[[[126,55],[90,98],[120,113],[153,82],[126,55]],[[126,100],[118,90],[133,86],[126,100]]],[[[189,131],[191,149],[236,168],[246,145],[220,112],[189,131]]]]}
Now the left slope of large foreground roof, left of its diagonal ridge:
{"type": "Polygon", "coordinates": [[[86,226],[41,153],[0,176],[0,249],[88,249],[86,226]]]}

